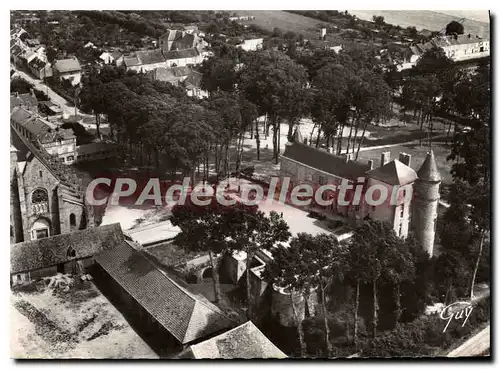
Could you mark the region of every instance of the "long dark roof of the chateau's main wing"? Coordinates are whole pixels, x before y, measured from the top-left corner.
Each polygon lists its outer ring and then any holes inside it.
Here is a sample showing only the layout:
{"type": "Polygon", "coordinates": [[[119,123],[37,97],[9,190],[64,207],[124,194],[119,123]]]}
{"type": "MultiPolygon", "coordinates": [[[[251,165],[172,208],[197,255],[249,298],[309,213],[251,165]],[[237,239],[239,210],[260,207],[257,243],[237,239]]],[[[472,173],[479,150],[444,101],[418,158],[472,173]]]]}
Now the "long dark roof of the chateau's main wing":
{"type": "Polygon", "coordinates": [[[344,157],[336,156],[327,151],[319,150],[315,147],[298,142],[286,145],[283,156],[346,179],[363,177],[365,172],[370,169],[368,164],[363,164],[358,161],[346,162],[344,157]]]}

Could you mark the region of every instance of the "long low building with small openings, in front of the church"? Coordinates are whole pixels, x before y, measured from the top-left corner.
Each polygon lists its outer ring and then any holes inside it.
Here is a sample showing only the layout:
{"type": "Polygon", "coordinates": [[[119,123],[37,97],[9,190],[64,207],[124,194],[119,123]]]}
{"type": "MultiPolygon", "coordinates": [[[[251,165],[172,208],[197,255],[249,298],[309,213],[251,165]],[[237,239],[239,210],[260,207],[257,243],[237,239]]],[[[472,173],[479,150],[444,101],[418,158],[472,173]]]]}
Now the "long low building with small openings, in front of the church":
{"type": "Polygon", "coordinates": [[[125,242],[119,223],[50,236],[38,228],[32,241],[10,246],[11,284],[19,285],[56,273],[79,274],[94,263],[93,257],[125,242]],[[41,237],[43,236],[43,237],[41,237]]]}

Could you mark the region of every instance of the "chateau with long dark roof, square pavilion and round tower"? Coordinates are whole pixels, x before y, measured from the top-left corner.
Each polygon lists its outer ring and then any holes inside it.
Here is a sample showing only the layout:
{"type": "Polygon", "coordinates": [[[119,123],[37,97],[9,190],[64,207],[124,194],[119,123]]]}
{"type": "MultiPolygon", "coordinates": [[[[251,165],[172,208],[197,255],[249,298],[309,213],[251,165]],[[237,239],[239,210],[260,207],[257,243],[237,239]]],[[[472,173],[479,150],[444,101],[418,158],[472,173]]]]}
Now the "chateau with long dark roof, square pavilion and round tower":
{"type": "MultiPolygon", "coordinates": [[[[374,168],[373,160],[367,163],[353,161],[350,154],[333,155],[303,142],[300,131],[295,131],[293,142],[287,143],[281,156],[282,179],[290,178],[291,186],[299,183],[339,186],[346,179],[354,188],[362,184],[364,194],[374,185],[385,186],[388,199],[394,196],[395,202],[385,201],[374,206],[361,196],[359,205],[340,205],[334,201],[327,210],[345,217],[353,226],[373,219],[391,223],[400,237],[407,237],[412,232],[432,256],[441,183],[432,151],[416,172],[411,168],[411,155],[406,153],[390,160],[390,152],[384,152],[380,166],[374,168]]],[[[352,200],[352,194],[346,200],[352,200]]]]}

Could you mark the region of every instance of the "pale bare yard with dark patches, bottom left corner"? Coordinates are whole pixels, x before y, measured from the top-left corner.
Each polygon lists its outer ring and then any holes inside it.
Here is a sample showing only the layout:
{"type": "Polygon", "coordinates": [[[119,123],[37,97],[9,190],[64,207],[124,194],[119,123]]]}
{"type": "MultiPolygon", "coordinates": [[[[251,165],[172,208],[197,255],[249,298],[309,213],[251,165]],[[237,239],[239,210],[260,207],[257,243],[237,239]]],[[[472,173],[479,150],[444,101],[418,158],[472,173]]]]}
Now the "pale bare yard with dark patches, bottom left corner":
{"type": "Polygon", "coordinates": [[[11,357],[158,358],[91,282],[66,292],[31,287],[11,294],[11,357]]]}

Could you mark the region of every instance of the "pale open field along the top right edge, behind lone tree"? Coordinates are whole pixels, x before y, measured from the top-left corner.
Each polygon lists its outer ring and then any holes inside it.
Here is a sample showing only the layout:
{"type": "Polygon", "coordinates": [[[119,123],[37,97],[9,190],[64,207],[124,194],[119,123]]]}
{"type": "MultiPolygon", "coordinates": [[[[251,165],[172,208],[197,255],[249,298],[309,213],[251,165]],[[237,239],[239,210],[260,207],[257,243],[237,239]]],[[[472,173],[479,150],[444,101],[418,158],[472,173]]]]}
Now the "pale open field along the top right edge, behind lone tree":
{"type": "MultiPolygon", "coordinates": [[[[360,19],[372,20],[374,15],[383,16],[386,23],[400,25],[401,27],[414,26],[418,30],[428,29],[439,31],[446,27],[452,20],[459,20],[461,17],[447,15],[431,10],[349,10],[349,13],[356,15],[360,19]]],[[[467,11],[463,11],[466,17],[467,11]]],[[[463,23],[465,33],[471,33],[486,37],[489,35],[489,24],[466,19],[463,23]]]]}

